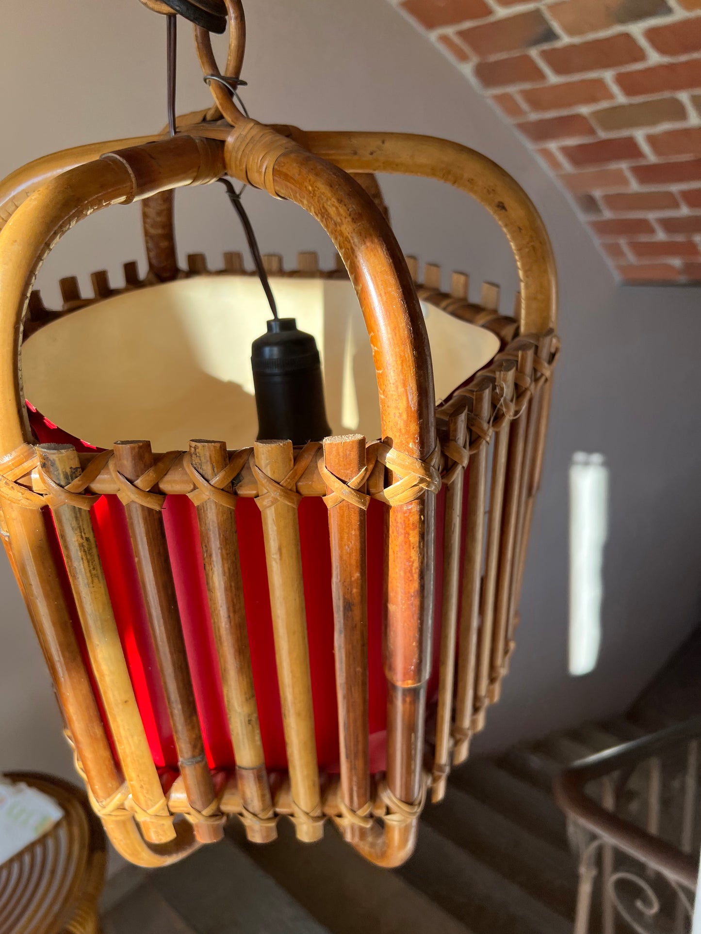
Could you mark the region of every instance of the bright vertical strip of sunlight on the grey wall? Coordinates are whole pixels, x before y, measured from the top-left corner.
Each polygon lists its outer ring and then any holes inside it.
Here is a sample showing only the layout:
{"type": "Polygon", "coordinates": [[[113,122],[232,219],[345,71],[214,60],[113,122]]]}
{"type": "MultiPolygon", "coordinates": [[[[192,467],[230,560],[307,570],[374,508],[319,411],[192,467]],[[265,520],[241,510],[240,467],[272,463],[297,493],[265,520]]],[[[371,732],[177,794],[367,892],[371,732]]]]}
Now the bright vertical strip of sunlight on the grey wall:
{"type": "Polygon", "coordinates": [[[569,673],[593,672],[601,644],[608,467],[603,454],[572,455],[569,468],[569,673]]]}

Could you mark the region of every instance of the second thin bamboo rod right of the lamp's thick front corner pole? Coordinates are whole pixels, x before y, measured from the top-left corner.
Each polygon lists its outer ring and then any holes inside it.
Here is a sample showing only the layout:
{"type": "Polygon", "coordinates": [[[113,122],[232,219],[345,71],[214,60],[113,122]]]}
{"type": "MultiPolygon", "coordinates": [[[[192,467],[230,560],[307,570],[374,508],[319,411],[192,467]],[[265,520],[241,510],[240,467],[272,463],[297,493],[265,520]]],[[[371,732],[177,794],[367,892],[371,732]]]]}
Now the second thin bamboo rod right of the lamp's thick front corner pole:
{"type": "MultiPolygon", "coordinates": [[[[492,380],[478,376],[465,395],[470,417],[485,426],[490,417],[492,380]]],[[[471,444],[480,440],[478,432],[470,432],[471,444]]],[[[484,442],[470,455],[469,487],[465,532],[465,559],[463,565],[463,595],[460,608],[460,640],[458,649],[457,691],[455,697],[454,765],[464,762],[469,750],[472,710],[475,697],[475,668],[477,665],[477,633],[479,629],[479,588],[482,574],[484,547],[484,508],[487,498],[487,461],[489,448],[484,442]]]]}

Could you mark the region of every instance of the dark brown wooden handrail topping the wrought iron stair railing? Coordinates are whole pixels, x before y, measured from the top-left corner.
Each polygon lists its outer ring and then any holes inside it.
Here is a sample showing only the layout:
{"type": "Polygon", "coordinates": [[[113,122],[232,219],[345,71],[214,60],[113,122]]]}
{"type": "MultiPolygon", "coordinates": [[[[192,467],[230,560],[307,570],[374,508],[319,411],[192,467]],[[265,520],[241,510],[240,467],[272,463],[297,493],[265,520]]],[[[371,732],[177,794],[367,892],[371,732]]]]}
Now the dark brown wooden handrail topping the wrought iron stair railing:
{"type": "Polygon", "coordinates": [[[555,778],[553,789],[558,807],[570,820],[591,830],[597,837],[613,843],[622,852],[641,860],[688,888],[696,887],[696,858],[647,830],[637,828],[618,814],[612,814],[587,795],[585,788],[597,778],[635,766],[671,746],[701,736],[701,717],[662,729],[630,743],[579,759],[555,778]]]}

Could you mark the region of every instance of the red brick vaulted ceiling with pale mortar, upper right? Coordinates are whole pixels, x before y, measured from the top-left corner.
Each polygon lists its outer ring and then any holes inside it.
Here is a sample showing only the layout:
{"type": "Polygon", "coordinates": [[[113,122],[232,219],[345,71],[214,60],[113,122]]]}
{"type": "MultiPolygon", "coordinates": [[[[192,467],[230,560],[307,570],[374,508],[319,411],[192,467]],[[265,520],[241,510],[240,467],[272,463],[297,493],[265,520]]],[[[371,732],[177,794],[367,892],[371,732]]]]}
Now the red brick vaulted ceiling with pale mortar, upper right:
{"type": "Polygon", "coordinates": [[[558,177],[629,283],[701,282],[701,0],[390,0],[558,177]]]}

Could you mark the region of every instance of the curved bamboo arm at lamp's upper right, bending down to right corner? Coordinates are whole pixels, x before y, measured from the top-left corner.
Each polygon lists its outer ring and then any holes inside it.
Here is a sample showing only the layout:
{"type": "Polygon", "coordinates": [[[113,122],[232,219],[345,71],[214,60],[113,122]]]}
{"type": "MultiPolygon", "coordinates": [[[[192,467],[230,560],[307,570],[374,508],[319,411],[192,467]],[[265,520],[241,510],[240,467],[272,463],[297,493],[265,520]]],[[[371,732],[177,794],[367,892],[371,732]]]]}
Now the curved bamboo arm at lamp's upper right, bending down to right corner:
{"type": "Polygon", "coordinates": [[[346,172],[436,178],[471,195],[508,237],[521,279],[521,332],[544,333],[555,327],[557,277],[548,232],[531,199],[501,166],[436,136],[305,132],[300,141],[346,172]]]}

